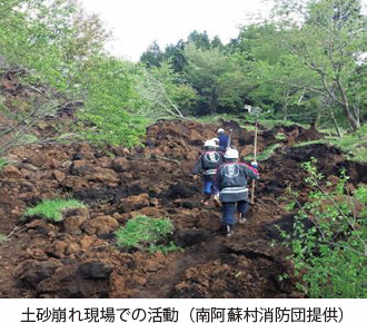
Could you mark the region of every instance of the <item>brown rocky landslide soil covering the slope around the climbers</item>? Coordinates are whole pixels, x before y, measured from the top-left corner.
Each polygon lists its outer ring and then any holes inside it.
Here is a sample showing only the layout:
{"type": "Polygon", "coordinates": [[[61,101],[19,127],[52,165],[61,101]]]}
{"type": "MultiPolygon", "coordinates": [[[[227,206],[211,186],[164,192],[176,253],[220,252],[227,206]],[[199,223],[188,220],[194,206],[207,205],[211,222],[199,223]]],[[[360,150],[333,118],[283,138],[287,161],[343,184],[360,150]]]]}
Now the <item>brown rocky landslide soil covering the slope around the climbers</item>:
{"type": "MultiPolygon", "coordinates": [[[[251,154],[254,131],[231,127],[234,146],[251,154]]],[[[295,288],[288,251],[271,246],[275,224],[291,229],[281,197],[291,184],[306,198],[300,163],[311,156],[330,178],[340,166],[353,183],[367,182],[366,165],[347,161],[325,145],[292,147],[318,138],[299,127],[264,130],[259,150],[279,143],[260,163],[256,203],[235,235],[217,234],[220,212],[201,206],[192,166],[215,125],[158,121],[147,129],[146,148],[98,149],[87,144],[43,144],[11,151],[0,174],[1,297],[302,297],[295,288]],[[277,140],[276,134],[285,134],[277,140]],[[88,209],[70,211],[61,223],[22,221],[41,199],[75,197],[88,209]],[[168,217],[182,253],[165,256],[118,248],[113,232],[137,214],[168,217]],[[279,275],[289,278],[280,281],[279,275]]],[[[47,130],[47,129],[46,129],[47,130]]],[[[333,179],[333,178],[331,178],[333,179]]]]}

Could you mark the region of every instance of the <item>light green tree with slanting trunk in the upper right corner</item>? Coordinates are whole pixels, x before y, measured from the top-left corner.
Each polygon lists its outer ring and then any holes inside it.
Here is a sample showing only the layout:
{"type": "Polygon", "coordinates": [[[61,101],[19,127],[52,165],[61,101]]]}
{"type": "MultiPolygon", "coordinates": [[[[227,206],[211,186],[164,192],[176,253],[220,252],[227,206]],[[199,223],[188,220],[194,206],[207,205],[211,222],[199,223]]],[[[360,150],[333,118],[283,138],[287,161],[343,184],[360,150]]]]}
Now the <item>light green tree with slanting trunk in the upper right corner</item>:
{"type": "Polygon", "coordinates": [[[360,2],[282,0],[276,18],[277,26],[288,31],[281,46],[318,78],[318,84],[307,85],[307,89],[341,108],[350,128],[357,130],[360,99],[356,87],[361,84],[354,82],[351,88],[351,79],[358,70],[356,56],[365,51],[360,2]],[[297,20],[289,12],[297,12],[297,20]],[[304,21],[301,26],[299,18],[304,21]]]}

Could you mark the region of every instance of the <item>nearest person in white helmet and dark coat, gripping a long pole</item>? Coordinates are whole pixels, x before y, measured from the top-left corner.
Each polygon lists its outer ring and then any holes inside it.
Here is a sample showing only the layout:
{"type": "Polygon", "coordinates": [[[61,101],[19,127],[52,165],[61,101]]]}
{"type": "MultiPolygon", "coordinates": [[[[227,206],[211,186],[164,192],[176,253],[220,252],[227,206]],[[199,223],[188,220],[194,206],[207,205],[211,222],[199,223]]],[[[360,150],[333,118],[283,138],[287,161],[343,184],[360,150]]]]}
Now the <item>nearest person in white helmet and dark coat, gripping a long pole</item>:
{"type": "Polygon", "coordinates": [[[234,233],[236,204],[239,223],[246,222],[246,213],[249,209],[247,180],[259,179],[257,163],[251,161],[249,166],[238,161],[238,157],[237,149],[227,149],[225,163],[218,168],[214,183],[215,202],[221,204],[221,229],[227,236],[234,233]]]}

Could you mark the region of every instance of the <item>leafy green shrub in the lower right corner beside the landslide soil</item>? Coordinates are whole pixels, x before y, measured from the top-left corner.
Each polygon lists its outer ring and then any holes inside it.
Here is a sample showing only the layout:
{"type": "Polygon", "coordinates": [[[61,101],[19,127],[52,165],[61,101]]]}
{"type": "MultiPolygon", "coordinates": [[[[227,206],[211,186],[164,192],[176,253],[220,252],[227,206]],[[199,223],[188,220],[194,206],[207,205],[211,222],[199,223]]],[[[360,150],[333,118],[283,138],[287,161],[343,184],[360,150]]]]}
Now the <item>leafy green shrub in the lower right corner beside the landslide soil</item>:
{"type": "MultiPolygon", "coordinates": [[[[299,207],[289,238],[296,274],[301,276],[299,288],[310,297],[365,297],[364,227],[366,217],[357,213],[360,202],[348,195],[345,170],[331,187],[317,172],[316,159],[302,165],[311,190],[308,202],[300,205],[297,194],[289,197],[299,207]],[[305,219],[313,225],[306,227],[305,219]],[[301,274],[302,273],[302,274],[301,274]]],[[[365,196],[359,188],[356,197],[365,196]]]]}

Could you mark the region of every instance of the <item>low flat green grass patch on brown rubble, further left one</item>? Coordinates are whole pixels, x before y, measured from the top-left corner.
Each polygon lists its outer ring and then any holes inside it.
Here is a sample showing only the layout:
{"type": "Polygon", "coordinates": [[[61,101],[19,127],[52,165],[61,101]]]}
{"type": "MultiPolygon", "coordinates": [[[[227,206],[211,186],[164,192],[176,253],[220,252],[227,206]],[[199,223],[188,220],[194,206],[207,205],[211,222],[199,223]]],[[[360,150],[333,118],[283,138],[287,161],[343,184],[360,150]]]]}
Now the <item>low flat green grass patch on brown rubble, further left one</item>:
{"type": "Polygon", "coordinates": [[[62,221],[62,212],[70,208],[86,207],[77,199],[46,199],[34,207],[26,209],[26,216],[40,215],[46,219],[62,221]]]}

